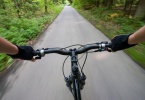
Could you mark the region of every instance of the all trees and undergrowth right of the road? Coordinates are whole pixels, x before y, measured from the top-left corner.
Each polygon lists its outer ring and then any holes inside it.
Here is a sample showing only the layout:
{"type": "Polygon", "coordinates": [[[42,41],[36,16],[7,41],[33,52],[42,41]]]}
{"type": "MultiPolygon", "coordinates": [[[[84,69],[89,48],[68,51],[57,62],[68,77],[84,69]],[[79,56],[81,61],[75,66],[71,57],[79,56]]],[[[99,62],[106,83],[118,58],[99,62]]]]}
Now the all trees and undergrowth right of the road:
{"type": "MultiPolygon", "coordinates": [[[[145,25],[145,0],[73,0],[73,6],[110,39],[145,25]]],[[[145,68],[145,43],[124,51],[145,68]]]]}

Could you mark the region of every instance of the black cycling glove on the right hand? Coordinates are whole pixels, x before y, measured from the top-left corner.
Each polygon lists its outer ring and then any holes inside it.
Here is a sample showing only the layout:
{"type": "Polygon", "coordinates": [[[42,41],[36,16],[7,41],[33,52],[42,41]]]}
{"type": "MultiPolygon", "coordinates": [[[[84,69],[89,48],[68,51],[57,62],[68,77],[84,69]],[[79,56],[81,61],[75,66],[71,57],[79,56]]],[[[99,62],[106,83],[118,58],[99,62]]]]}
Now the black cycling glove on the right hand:
{"type": "Polygon", "coordinates": [[[111,49],[113,51],[118,51],[118,50],[123,50],[132,46],[135,46],[136,44],[128,44],[128,38],[131,34],[127,34],[127,35],[118,35],[116,37],[114,37],[111,42],[112,42],[112,46],[111,49]]]}

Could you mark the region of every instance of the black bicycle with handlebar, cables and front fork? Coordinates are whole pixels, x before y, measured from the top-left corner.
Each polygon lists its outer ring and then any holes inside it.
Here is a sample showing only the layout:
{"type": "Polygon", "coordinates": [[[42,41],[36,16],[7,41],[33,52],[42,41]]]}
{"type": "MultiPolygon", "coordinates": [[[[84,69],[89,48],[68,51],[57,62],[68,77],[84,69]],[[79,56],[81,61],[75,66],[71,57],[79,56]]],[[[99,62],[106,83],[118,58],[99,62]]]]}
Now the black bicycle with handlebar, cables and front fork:
{"type": "MultiPolygon", "coordinates": [[[[72,46],[76,46],[76,45],[72,45],[72,46]]],[[[68,46],[66,48],[72,46],[68,46]]],[[[82,100],[80,90],[83,89],[86,80],[86,75],[83,72],[83,67],[87,59],[87,54],[92,52],[110,51],[109,48],[111,47],[111,43],[100,42],[100,43],[92,43],[92,44],[86,44],[80,46],[81,48],[78,49],[74,48],[69,50],[67,50],[66,48],[42,48],[34,51],[34,56],[36,59],[41,59],[41,57],[44,57],[45,54],[50,54],[50,53],[58,53],[60,55],[68,55],[71,57],[71,74],[68,77],[66,77],[64,74],[64,64],[68,57],[64,60],[62,71],[64,75],[64,80],[66,82],[66,86],[73,94],[74,100],[82,100]],[[89,50],[92,49],[95,49],[95,51],[88,52],[89,50]],[[80,71],[78,67],[79,65],[78,54],[82,54],[82,53],[86,53],[86,58],[83,66],[80,67],[81,69],[80,71]]]]}

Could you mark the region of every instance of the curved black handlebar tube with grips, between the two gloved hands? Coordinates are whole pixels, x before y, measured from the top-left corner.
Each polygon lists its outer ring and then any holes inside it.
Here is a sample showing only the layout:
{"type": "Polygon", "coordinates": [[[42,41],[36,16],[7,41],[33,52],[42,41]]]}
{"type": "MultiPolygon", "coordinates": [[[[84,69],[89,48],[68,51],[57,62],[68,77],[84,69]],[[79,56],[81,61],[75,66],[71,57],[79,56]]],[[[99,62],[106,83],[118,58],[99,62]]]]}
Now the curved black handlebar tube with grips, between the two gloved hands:
{"type": "MultiPolygon", "coordinates": [[[[111,47],[111,43],[101,42],[83,45],[83,48],[75,49],[76,54],[85,53],[91,49],[98,49],[98,51],[107,51],[111,47]]],[[[33,55],[38,57],[43,57],[45,54],[58,53],[61,55],[71,55],[71,50],[66,50],[65,48],[42,48],[35,50],[33,55]]]]}

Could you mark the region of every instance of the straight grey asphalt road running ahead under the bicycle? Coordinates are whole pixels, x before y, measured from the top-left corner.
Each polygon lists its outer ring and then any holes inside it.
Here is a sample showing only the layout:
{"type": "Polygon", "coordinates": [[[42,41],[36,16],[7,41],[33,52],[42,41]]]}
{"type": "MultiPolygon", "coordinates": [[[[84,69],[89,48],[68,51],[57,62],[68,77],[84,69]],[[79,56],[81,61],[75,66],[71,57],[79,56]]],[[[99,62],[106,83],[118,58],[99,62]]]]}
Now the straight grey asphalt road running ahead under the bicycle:
{"type": "MultiPolygon", "coordinates": [[[[34,48],[101,41],[110,40],[75,9],[65,6],[34,48]]],[[[36,62],[19,61],[0,79],[0,100],[73,100],[62,75],[64,59],[51,54],[36,62]]],[[[66,75],[69,64],[68,59],[66,75]]],[[[145,100],[145,71],[122,51],[89,54],[84,73],[82,100],[145,100]]]]}

